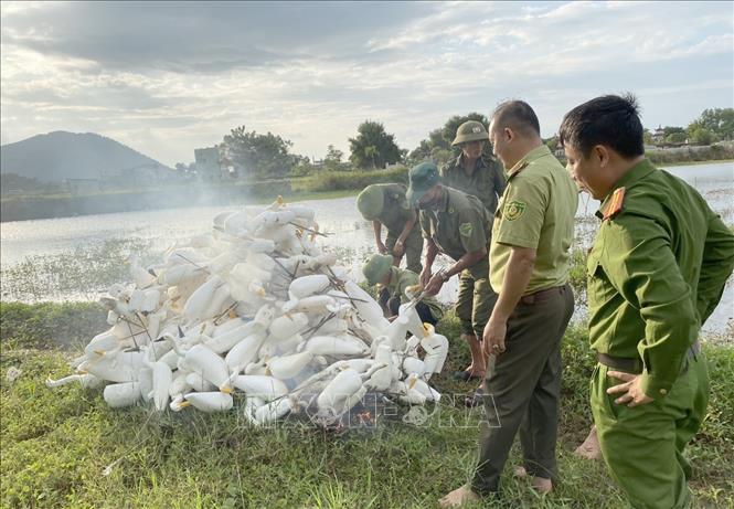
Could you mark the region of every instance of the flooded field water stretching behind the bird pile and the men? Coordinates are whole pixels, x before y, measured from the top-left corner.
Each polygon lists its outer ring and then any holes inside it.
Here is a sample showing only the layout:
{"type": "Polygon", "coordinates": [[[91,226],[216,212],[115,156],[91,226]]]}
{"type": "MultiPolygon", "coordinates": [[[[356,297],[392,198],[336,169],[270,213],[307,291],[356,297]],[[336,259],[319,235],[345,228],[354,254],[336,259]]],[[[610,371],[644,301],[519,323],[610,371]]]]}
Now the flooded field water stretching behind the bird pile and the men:
{"type": "MultiPolygon", "coordinates": [[[[676,167],[670,171],[694,185],[726,224],[734,224],[734,163],[676,167]]],[[[325,248],[337,253],[342,265],[360,279],[359,267],[373,252],[374,238],[371,224],[357,210],[355,197],[306,203],[316,210],[321,231],[329,233],[322,240],[325,248]]],[[[255,205],[252,210],[260,208],[255,205]]],[[[598,202],[582,195],[576,250],[585,252],[591,244],[598,225],[594,216],[597,208],[598,202]]],[[[2,300],[96,300],[109,285],[128,278],[124,262],[130,254],[137,254],[146,264],[155,263],[177,241],[209,231],[212,218],[225,210],[232,206],[2,223],[2,300]]],[[[455,299],[455,279],[442,289],[439,298],[444,303],[455,299]]],[[[582,307],[576,318],[583,315],[582,307]]],[[[705,330],[730,333],[733,316],[734,284],[730,280],[705,330]]]]}

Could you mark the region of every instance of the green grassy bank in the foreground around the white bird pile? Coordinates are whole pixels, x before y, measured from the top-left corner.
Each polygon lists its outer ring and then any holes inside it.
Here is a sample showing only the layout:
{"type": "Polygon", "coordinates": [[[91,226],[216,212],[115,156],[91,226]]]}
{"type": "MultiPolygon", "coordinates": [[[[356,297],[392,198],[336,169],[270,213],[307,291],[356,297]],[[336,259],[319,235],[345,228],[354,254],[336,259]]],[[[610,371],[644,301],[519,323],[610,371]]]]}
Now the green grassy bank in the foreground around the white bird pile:
{"type": "MultiPolygon", "coordinates": [[[[466,412],[449,397],[470,389],[449,379],[469,358],[458,341],[436,380],[445,397],[427,425],[397,421],[334,434],[292,422],[252,428],[237,411],[114,411],[100,390],[47,389],[47,375],[68,372],[74,344],[104,328],[94,304],[3,303],[0,328],[2,507],[435,507],[467,479],[475,460],[480,412],[466,412]],[[22,370],[12,383],[6,378],[11,367],[22,370]]],[[[449,317],[442,331],[456,338],[456,320],[449,317]]],[[[698,507],[731,507],[734,349],[708,347],[706,354],[712,400],[689,449],[691,486],[698,507]]],[[[591,422],[593,361],[582,329],[568,331],[564,361],[556,491],[540,499],[508,475],[504,501],[489,507],[627,507],[600,463],[572,455],[591,422]]],[[[514,450],[508,468],[517,462],[514,450]]]]}

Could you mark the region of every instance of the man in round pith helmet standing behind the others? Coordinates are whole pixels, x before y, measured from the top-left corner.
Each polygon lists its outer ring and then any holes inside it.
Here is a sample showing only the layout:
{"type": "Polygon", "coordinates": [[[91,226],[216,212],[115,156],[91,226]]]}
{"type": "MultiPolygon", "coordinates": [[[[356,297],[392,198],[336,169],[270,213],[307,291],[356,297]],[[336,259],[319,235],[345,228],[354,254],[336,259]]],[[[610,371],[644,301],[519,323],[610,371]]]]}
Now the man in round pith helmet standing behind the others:
{"type": "Polygon", "coordinates": [[[487,129],[480,121],[461,124],[451,142],[454,147],[461,148],[461,153],[440,169],[440,181],[444,185],[477,197],[489,213],[494,214],[507,183],[499,165],[481,157],[487,139],[487,129]]]}

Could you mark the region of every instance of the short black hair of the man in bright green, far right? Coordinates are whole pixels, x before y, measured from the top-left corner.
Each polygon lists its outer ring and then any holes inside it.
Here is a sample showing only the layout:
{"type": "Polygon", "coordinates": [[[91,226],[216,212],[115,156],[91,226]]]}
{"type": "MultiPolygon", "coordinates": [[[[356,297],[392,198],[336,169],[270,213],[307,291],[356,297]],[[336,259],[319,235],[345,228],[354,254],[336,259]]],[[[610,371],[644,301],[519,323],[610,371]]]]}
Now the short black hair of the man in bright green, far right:
{"type": "Polygon", "coordinates": [[[606,145],[626,159],[645,153],[639,106],[632,94],[604,95],[568,112],[559,129],[559,144],[587,157],[597,145],[606,145]]]}

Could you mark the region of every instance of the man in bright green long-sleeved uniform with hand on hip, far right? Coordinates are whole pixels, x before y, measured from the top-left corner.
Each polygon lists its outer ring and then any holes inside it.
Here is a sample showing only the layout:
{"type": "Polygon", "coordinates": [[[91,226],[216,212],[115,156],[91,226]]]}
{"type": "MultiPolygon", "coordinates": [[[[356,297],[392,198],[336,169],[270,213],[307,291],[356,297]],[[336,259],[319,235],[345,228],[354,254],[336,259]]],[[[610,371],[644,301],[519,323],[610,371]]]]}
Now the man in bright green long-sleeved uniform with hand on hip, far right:
{"type": "Polygon", "coordinates": [[[709,400],[699,331],[734,267],[734,235],[693,188],[645,159],[634,97],[577,106],[560,140],[574,179],[602,200],[587,259],[602,455],[634,507],[685,507],[683,448],[709,400]]]}

